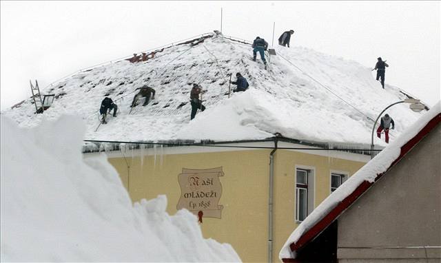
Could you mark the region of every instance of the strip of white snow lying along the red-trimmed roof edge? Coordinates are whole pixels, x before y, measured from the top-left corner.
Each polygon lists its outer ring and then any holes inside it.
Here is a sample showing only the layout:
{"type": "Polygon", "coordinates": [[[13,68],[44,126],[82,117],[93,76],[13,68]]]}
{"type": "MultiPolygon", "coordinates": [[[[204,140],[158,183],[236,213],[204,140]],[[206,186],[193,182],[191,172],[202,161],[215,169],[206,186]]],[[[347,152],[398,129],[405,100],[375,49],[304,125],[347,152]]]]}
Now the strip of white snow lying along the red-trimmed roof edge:
{"type": "Polygon", "coordinates": [[[384,148],[380,154],[363,166],[360,170],[346,180],[336,191],[332,192],[323,202],[321,202],[310,215],[303,220],[300,225],[285,242],[285,245],[279,253],[279,259],[291,258],[291,249],[289,245],[298,241],[311,227],[325,217],[342,200],[349,196],[364,181],[374,182],[378,174],[387,171],[392,162],[400,156],[402,145],[406,144],[411,138],[416,136],[431,119],[441,113],[441,101],[434,105],[429,112],[424,114],[416,123],[408,127],[402,135],[397,138],[388,147],[384,148]]]}

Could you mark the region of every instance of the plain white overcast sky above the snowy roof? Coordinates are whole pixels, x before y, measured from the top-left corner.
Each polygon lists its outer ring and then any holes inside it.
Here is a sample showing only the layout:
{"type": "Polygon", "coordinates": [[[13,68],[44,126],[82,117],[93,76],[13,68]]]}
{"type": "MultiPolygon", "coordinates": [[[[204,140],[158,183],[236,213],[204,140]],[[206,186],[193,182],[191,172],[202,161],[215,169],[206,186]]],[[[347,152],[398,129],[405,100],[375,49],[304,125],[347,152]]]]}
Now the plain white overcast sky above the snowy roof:
{"type": "MultiPolygon", "coordinates": [[[[81,68],[220,29],[373,67],[429,105],[440,100],[439,1],[1,1],[1,109],[81,68]]],[[[250,56],[252,51],[250,49],[250,56]]],[[[374,73],[373,73],[374,77],[374,73]]]]}

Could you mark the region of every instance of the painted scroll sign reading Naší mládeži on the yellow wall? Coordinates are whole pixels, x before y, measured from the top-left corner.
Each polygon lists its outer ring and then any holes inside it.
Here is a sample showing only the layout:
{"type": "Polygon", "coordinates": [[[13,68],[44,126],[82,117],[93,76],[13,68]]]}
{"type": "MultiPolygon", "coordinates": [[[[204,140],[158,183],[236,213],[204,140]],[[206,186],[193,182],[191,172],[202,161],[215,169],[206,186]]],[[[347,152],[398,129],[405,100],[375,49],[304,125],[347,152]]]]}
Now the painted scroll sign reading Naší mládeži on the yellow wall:
{"type": "Polygon", "coordinates": [[[222,167],[212,169],[182,169],[178,175],[181,186],[181,198],[176,209],[187,209],[202,218],[220,218],[223,205],[219,205],[222,185],[219,176],[223,176],[222,167]]]}

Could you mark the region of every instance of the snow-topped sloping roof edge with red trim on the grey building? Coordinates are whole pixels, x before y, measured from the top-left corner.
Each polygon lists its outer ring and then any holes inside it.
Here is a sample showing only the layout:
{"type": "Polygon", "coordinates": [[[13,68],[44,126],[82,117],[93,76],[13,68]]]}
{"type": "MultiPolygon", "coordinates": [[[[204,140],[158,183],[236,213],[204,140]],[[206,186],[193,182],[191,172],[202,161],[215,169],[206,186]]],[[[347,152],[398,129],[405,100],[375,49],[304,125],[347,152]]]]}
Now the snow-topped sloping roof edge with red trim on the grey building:
{"type": "Polygon", "coordinates": [[[424,136],[440,123],[441,101],[319,204],[291,233],[279,253],[279,259],[296,258],[295,251],[326,229],[378,178],[391,169],[413,146],[418,144],[424,136]]]}

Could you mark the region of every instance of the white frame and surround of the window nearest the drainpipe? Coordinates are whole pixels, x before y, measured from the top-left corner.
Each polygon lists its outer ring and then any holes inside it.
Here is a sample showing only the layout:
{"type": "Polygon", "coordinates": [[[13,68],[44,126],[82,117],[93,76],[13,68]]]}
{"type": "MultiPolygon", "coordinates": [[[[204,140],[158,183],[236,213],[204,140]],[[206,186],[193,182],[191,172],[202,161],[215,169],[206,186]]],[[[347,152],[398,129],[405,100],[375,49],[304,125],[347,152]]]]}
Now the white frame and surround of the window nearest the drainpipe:
{"type": "Polygon", "coordinates": [[[308,189],[307,189],[307,213],[308,216],[315,208],[316,200],[316,167],[306,166],[306,165],[295,165],[294,166],[294,220],[295,222],[302,222],[298,219],[298,198],[297,198],[297,170],[307,170],[308,171],[308,189]]]}

